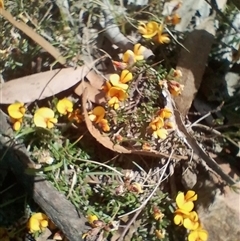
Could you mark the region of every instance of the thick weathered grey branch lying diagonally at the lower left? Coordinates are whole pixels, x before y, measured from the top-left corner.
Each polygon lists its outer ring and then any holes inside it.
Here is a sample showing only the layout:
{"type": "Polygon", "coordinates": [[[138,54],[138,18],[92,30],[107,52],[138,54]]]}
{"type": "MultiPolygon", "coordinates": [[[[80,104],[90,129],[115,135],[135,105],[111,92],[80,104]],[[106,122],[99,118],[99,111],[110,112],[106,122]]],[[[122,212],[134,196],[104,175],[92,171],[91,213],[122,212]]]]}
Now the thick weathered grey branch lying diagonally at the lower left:
{"type": "Polygon", "coordinates": [[[14,142],[11,136],[13,136],[12,130],[3,112],[0,111],[0,156],[3,157],[1,161],[6,162],[17,180],[23,184],[46,215],[63,231],[68,240],[82,241],[86,222],[83,215],[79,214],[66,197],[43,177],[25,174],[25,169],[33,167],[34,163],[29,158],[26,148],[14,142]]]}

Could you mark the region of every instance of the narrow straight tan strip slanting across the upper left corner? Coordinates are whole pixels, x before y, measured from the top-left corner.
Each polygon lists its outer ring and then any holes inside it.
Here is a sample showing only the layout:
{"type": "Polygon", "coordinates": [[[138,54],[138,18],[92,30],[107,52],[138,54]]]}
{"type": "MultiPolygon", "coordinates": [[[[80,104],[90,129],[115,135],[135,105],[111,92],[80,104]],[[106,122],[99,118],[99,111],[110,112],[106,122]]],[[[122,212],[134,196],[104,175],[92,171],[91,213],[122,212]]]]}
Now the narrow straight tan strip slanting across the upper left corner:
{"type": "Polygon", "coordinates": [[[32,28],[23,22],[16,21],[12,14],[7,10],[0,8],[0,15],[2,15],[7,21],[9,21],[13,26],[24,32],[33,41],[39,44],[43,49],[45,49],[49,54],[51,54],[60,64],[65,65],[66,59],[61,55],[58,49],[53,47],[47,40],[36,33],[32,28]]]}

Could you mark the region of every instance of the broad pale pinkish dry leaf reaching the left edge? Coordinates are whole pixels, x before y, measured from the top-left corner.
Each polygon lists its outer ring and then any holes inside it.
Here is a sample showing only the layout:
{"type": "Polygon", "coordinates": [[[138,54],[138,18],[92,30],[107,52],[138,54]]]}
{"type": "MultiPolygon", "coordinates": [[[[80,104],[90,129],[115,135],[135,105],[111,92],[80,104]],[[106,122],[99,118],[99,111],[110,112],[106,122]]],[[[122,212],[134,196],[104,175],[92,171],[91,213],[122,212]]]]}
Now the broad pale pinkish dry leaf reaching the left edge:
{"type": "Polygon", "coordinates": [[[56,69],[0,84],[0,104],[11,104],[15,101],[28,103],[54,96],[84,79],[90,68],[84,65],[77,69],[56,69]]]}

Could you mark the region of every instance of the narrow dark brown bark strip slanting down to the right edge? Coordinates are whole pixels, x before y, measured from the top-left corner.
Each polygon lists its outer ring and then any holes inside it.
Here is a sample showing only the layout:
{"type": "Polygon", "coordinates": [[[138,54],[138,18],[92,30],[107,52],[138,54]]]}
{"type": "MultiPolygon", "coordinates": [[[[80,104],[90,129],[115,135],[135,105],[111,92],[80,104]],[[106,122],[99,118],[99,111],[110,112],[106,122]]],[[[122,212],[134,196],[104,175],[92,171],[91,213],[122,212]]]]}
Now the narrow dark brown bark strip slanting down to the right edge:
{"type": "Polygon", "coordinates": [[[229,185],[235,184],[235,181],[226,173],[223,172],[221,167],[211,158],[206,152],[198,145],[197,141],[188,133],[183,121],[180,112],[174,108],[174,116],[176,118],[177,128],[180,133],[183,135],[183,138],[193,150],[194,154],[197,155],[201,160],[203,160],[207,166],[212,169],[217,175],[219,175],[222,180],[227,182],[229,185]]]}

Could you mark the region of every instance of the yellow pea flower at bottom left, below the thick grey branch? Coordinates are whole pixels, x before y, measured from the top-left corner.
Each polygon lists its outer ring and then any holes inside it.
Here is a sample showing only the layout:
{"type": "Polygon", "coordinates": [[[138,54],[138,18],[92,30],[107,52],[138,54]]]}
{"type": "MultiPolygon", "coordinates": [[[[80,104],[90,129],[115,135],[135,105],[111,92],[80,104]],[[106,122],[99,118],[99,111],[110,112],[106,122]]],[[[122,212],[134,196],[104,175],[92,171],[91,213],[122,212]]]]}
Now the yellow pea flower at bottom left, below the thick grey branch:
{"type": "Polygon", "coordinates": [[[35,213],[28,221],[28,228],[31,233],[43,231],[47,226],[48,217],[44,213],[35,213]]]}

